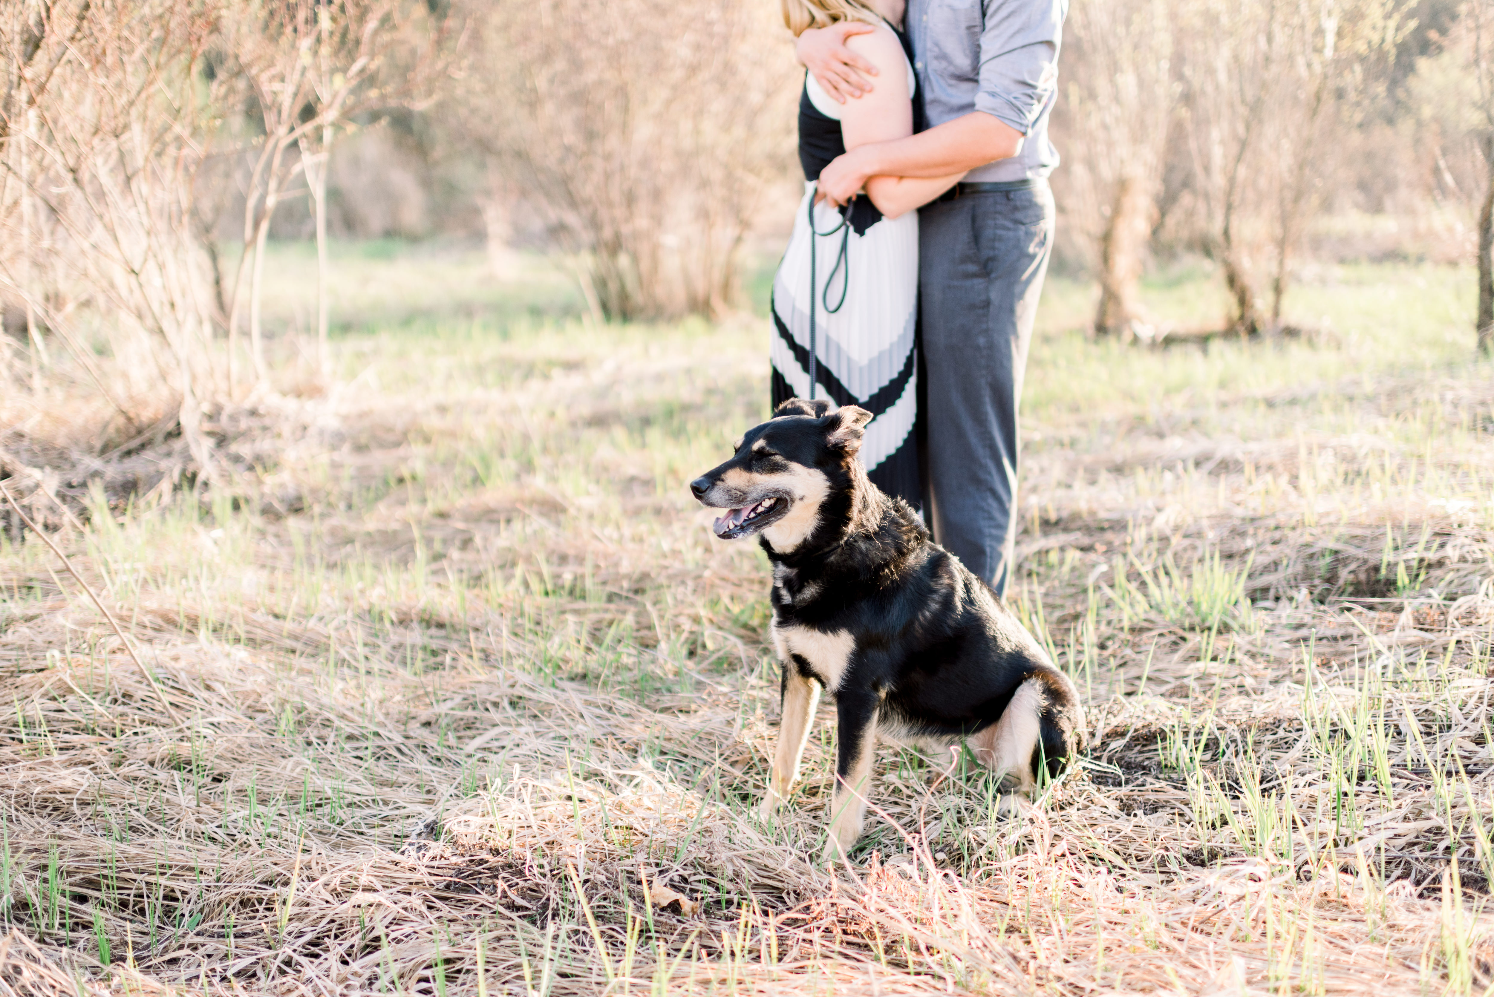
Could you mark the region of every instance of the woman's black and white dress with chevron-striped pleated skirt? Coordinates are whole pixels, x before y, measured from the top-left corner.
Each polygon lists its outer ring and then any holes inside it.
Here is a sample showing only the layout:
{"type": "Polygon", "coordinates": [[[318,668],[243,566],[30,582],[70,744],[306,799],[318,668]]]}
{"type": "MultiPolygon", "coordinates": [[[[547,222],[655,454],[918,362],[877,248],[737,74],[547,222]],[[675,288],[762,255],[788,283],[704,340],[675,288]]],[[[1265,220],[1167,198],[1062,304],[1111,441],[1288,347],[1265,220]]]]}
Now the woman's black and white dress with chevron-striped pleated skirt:
{"type": "MultiPolygon", "coordinates": [[[[908,81],[911,91],[911,64],[908,81]]],[[[844,151],[840,105],[805,73],[799,99],[804,197],[772,281],[772,405],[777,408],[789,398],[810,398],[810,294],[817,293],[814,395],[837,405],[861,405],[874,416],[861,447],[867,472],[883,492],[917,508],[922,495],[913,425],[917,417],[919,217],[910,211],[884,218],[865,196],[856,197],[844,214],[829,205],[814,205],[814,181],[844,151]],[[813,236],[811,212],[817,232],[834,233],[813,236]],[[837,230],[843,221],[844,227],[837,230]],[[811,239],[814,290],[810,288],[811,239]]]]}

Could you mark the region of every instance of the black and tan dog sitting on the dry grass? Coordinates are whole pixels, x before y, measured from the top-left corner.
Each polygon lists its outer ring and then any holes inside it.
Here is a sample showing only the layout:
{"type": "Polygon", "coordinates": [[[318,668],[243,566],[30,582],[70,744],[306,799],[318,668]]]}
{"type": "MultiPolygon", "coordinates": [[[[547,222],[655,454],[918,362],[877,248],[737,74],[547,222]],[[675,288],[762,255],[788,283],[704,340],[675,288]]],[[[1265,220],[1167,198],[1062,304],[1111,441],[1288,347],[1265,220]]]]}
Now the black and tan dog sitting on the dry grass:
{"type": "Polygon", "coordinates": [[[878,735],[970,738],[1022,794],[1083,747],[1068,677],[917,513],[867,480],[856,451],[870,420],[855,405],[789,399],[690,483],[702,505],[728,510],[717,537],[759,535],[772,562],[783,722],[765,818],[793,786],[820,689],[835,697],[829,858],[861,836],[878,735]]]}

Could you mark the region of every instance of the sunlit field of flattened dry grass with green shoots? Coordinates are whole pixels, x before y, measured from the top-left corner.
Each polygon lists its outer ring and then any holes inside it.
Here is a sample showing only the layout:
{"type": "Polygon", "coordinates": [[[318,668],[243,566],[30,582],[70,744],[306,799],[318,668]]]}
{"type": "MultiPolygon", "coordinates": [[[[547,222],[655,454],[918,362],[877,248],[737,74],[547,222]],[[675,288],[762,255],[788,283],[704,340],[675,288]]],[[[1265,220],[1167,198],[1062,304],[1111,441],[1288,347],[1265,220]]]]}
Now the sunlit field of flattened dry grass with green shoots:
{"type": "MultiPolygon", "coordinates": [[[[309,260],[272,260],[279,326],[309,260]]],[[[338,268],[333,386],[279,339],[279,393],[209,426],[223,489],[34,492],[66,564],[0,541],[0,991],[1494,993],[1470,272],[1321,268],[1304,338],[1165,350],[1050,281],[1011,602],[1092,755],[1007,821],[883,747],[825,867],[831,707],[759,824],[766,562],[684,487],[765,414],[762,318],[589,327],[533,257],[338,268]]],[[[1197,266],[1146,293],[1221,311],[1197,266]]]]}

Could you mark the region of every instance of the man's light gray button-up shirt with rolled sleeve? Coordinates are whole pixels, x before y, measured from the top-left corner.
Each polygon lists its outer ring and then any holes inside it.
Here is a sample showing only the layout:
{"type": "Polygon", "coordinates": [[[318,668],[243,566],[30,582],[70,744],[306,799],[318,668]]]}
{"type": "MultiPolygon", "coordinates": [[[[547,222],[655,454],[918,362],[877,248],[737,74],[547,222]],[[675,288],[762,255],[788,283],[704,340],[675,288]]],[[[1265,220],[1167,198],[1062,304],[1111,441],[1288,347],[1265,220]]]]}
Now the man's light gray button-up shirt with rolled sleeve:
{"type": "Polygon", "coordinates": [[[929,127],[985,111],[1026,136],[1020,152],[977,166],[967,181],[1037,179],[1058,166],[1047,117],[1067,13],[1068,0],[908,1],[913,69],[929,127]]]}

